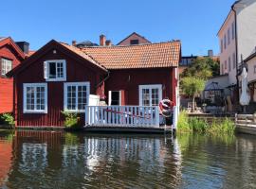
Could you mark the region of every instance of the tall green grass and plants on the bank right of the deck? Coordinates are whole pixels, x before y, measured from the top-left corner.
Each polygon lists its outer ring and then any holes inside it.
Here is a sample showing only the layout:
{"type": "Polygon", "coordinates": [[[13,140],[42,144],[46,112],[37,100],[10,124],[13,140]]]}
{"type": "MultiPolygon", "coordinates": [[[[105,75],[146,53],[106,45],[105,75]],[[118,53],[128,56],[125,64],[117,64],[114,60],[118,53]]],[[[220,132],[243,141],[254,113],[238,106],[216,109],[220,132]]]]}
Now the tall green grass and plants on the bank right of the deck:
{"type": "Polygon", "coordinates": [[[197,117],[189,117],[186,112],[180,112],[178,124],[178,132],[196,132],[209,134],[234,134],[234,122],[226,117],[223,121],[218,121],[216,118],[209,124],[204,119],[197,117]]]}

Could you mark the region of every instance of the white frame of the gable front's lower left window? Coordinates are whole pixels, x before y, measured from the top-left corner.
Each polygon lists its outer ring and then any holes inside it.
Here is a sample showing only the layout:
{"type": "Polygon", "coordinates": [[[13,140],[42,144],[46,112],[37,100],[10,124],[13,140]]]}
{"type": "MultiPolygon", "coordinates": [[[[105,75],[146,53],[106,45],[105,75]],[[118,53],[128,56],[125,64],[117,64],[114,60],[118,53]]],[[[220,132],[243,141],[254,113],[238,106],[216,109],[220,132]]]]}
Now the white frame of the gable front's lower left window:
{"type": "MultiPolygon", "coordinates": [[[[34,106],[36,108],[36,94],[34,95],[34,106]]],[[[23,84],[23,112],[24,113],[47,113],[47,83],[24,83],[23,84]],[[45,110],[27,110],[27,87],[45,87],[45,110]]]]}

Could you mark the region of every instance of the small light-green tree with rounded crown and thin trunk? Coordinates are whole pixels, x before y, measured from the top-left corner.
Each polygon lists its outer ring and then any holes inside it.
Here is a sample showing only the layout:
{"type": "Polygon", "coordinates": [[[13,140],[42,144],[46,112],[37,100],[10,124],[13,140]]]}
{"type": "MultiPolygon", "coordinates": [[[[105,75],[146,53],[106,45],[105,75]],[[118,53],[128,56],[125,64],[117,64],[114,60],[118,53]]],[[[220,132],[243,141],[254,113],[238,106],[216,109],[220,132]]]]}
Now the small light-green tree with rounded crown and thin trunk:
{"type": "Polygon", "coordinates": [[[181,89],[183,93],[192,96],[192,112],[194,112],[194,99],[205,89],[206,81],[198,77],[183,77],[181,79],[181,89]]]}

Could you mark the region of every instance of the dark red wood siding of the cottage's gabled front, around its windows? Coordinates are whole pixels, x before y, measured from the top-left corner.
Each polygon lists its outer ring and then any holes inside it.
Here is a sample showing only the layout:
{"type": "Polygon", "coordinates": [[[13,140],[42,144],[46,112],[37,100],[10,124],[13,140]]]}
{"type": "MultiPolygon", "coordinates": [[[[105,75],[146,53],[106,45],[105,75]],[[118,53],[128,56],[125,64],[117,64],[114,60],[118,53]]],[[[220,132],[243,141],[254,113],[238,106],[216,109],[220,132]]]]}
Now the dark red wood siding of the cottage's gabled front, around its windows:
{"type": "MultiPolygon", "coordinates": [[[[56,49],[56,48],[53,48],[56,49]]],[[[90,94],[96,94],[96,85],[100,82],[101,72],[86,66],[84,63],[67,55],[60,49],[53,54],[53,49],[46,52],[39,60],[30,64],[25,70],[15,77],[16,103],[15,117],[17,126],[45,127],[45,126],[64,126],[64,82],[90,82],[90,94]],[[44,78],[45,60],[66,60],[66,81],[46,82],[44,78]],[[23,113],[23,83],[47,83],[47,113],[23,113]]],[[[101,74],[102,75],[102,74],[101,74]]],[[[81,125],[84,122],[83,113],[81,125]]]]}

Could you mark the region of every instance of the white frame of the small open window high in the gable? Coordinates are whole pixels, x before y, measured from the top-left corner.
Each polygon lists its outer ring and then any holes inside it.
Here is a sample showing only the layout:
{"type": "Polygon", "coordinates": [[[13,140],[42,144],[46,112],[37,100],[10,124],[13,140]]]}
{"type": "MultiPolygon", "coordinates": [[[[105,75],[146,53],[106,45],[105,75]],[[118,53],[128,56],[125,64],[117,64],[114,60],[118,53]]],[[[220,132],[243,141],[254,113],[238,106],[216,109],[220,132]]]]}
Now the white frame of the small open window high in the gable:
{"type": "Polygon", "coordinates": [[[46,60],[44,61],[44,77],[46,81],[65,81],[66,80],[66,61],[65,60],[46,60]],[[58,68],[56,65],[56,78],[49,78],[49,63],[63,63],[64,77],[58,77],[58,68]]]}

